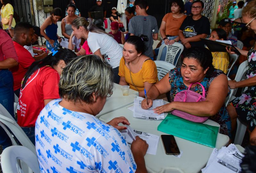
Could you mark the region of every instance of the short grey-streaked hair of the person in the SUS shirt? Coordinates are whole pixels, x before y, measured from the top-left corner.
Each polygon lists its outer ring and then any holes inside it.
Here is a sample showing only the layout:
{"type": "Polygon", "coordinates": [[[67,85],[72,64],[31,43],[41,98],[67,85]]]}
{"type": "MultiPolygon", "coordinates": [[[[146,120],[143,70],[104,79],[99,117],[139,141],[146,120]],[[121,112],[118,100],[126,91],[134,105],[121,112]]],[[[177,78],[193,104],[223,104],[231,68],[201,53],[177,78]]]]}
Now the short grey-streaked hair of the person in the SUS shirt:
{"type": "Polygon", "coordinates": [[[63,70],[59,83],[61,98],[73,102],[93,103],[96,97],[106,97],[111,92],[114,73],[108,62],[97,55],[81,55],[63,70]]]}

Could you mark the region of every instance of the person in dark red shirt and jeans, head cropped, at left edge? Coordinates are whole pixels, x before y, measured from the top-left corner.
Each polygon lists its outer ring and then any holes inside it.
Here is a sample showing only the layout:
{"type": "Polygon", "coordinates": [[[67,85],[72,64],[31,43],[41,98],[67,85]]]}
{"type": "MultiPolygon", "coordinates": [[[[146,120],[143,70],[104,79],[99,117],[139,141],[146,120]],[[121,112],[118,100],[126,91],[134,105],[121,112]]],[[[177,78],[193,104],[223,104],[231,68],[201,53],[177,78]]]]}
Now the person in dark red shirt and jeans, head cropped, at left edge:
{"type": "MultiPolygon", "coordinates": [[[[8,68],[18,65],[18,56],[12,43],[11,37],[0,29],[0,103],[14,118],[14,94],[12,73],[8,68]]],[[[0,127],[0,145],[3,149],[12,145],[9,136],[0,127]]]]}

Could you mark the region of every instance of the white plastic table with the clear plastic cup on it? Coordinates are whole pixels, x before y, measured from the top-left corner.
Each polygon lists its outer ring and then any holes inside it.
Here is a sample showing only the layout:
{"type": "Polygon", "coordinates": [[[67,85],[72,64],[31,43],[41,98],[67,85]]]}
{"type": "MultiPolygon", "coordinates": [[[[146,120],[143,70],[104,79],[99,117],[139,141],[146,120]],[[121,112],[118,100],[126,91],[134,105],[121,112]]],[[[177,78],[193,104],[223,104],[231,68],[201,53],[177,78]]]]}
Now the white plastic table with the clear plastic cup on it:
{"type": "Polygon", "coordinates": [[[130,89],[128,96],[123,96],[121,91],[121,85],[114,83],[113,94],[111,97],[107,97],[107,101],[102,109],[102,111],[96,115],[100,117],[108,112],[115,111],[134,102],[134,98],[137,98],[139,93],[135,90],[130,89]]]}

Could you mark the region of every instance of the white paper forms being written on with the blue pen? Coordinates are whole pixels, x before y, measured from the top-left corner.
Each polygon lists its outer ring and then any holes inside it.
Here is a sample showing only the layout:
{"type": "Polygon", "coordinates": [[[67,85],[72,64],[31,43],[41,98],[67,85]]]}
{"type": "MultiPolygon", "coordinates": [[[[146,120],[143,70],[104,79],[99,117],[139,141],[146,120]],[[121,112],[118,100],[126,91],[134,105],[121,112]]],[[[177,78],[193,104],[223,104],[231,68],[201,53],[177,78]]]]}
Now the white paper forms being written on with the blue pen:
{"type": "Polygon", "coordinates": [[[164,119],[164,113],[157,114],[154,113],[154,110],[158,106],[164,105],[163,99],[156,99],[153,100],[153,105],[151,108],[148,109],[142,109],[141,108],[141,101],[144,98],[137,97],[137,99],[134,99],[134,111],[133,111],[133,117],[140,118],[140,119],[152,119],[152,120],[159,120],[164,119]]]}

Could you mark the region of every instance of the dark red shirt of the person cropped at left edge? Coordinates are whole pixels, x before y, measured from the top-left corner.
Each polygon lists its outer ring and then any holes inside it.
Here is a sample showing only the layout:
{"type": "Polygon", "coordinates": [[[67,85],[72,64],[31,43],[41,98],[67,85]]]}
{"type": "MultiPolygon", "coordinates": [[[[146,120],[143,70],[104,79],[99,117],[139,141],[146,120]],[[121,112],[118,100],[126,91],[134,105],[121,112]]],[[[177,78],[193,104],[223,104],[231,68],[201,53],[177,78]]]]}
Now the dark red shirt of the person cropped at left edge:
{"type": "Polygon", "coordinates": [[[0,29],[0,61],[4,61],[4,57],[13,58],[18,61],[15,48],[11,37],[2,29],[0,29]]]}

